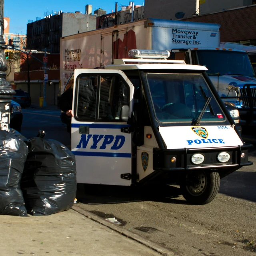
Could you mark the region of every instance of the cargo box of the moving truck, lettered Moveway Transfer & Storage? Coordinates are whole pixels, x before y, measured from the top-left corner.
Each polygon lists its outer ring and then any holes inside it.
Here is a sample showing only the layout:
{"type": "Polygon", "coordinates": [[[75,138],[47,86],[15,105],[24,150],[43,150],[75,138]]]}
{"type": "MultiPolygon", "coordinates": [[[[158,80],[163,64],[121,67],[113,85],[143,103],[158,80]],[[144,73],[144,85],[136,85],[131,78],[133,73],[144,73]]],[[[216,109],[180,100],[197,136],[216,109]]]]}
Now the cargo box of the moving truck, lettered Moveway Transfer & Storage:
{"type": "Polygon", "coordinates": [[[60,76],[63,88],[75,68],[105,67],[129,58],[132,49],[214,48],[220,25],[146,19],[61,38],[60,76]]]}

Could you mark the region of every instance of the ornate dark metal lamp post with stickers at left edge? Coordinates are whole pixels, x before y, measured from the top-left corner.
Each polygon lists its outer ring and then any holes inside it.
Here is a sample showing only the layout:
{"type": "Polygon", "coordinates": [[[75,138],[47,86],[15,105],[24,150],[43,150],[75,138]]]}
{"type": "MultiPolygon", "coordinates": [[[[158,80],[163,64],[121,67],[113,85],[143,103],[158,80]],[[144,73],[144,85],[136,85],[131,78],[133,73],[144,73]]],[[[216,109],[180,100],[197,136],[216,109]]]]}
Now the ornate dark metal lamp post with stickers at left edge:
{"type": "Polygon", "coordinates": [[[0,0],[0,130],[9,130],[11,98],[15,91],[6,81],[6,61],[4,57],[4,0],[0,0]]]}

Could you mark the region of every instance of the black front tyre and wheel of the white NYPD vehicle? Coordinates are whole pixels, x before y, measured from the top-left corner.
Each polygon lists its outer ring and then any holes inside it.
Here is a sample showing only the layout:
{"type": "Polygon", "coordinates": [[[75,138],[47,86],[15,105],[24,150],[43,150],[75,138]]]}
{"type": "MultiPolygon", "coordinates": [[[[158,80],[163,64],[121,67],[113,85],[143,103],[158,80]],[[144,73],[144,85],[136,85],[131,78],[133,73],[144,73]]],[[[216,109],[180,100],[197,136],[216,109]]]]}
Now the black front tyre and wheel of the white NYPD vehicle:
{"type": "Polygon", "coordinates": [[[180,189],[184,198],[192,204],[207,204],[218,194],[220,175],[214,171],[190,171],[182,175],[180,189]]]}

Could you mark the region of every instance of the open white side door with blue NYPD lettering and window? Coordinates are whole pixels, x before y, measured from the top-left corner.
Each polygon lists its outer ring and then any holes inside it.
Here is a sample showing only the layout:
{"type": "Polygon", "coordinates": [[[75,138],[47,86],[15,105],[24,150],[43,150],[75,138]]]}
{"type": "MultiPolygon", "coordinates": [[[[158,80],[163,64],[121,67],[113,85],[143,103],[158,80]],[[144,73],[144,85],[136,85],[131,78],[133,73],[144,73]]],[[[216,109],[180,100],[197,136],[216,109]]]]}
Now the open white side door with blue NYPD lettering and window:
{"type": "Polygon", "coordinates": [[[71,147],[78,183],[130,186],[131,180],[122,179],[121,174],[132,171],[127,118],[132,113],[133,91],[120,70],[75,70],[71,147]]]}

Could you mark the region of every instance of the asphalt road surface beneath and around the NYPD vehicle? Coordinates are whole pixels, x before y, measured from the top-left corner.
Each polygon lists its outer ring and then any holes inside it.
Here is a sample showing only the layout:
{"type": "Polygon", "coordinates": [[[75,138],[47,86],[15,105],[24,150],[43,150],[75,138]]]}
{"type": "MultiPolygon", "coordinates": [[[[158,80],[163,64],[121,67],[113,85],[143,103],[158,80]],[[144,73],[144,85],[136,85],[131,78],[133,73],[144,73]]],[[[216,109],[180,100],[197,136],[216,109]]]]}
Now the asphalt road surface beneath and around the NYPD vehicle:
{"type": "MultiPolygon", "coordinates": [[[[59,110],[24,109],[22,134],[70,146],[59,110]]],[[[253,136],[243,134],[246,142],[253,136]]],[[[249,159],[256,162],[256,147],[249,159]]],[[[128,188],[86,185],[79,190],[81,208],[103,218],[116,217],[121,226],[189,256],[256,255],[256,170],[246,166],[221,180],[209,204],[188,204],[178,186],[128,188]]]]}

